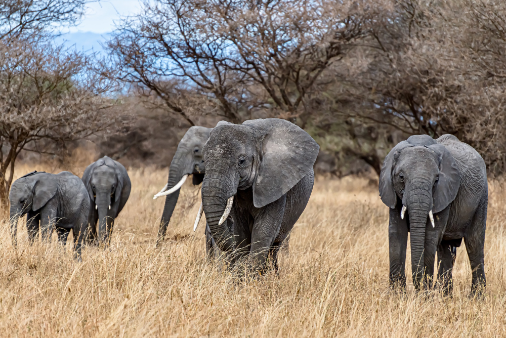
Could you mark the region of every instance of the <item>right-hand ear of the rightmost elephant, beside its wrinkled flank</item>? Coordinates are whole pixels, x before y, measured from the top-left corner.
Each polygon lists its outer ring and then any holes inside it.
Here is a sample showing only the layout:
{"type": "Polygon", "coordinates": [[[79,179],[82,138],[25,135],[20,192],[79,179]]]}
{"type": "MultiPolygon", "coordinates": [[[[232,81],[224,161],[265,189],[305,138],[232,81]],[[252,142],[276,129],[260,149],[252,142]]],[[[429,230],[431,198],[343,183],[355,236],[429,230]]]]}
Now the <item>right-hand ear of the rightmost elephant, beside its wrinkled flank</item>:
{"type": "Polygon", "coordinates": [[[433,194],[432,212],[439,213],[457,196],[460,175],[457,163],[451,152],[442,144],[428,147],[439,154],[439,181],[433,194]]]}

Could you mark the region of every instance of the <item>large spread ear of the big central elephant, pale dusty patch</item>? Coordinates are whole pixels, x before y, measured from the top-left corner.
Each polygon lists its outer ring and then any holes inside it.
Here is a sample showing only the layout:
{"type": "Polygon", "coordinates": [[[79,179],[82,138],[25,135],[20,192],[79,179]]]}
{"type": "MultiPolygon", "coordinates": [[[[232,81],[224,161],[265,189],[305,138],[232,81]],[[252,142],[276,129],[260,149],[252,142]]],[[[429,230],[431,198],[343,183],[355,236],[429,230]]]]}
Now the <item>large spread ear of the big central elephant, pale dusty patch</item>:
{"type": "Polygon", "coordinates": [[[299,126],[278,118],[243,123],[263,136],[262,156],[253,184],[253,203],[274,202],[311,172],[320,146],[299,126]]]}

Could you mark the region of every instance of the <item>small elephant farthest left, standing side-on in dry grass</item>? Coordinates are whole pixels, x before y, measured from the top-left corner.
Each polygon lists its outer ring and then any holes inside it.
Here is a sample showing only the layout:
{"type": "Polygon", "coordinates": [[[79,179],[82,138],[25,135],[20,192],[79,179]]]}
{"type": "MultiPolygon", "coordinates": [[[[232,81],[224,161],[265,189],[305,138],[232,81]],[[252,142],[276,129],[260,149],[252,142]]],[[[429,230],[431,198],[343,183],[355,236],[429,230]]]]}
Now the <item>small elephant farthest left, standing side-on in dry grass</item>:
{"type": "Polygon", "coordinates": [[[87,226],[90,201],[81,180],[69,173],[32,172],[17,179],[9,192],[10,222],[13,245],[17,245],[19,217],[26,216],[28,239],[33,244],[39,226],[43,241],[56,230],[62,245],[72,230],[74,252],[80,261],[81,246],[87,226]]]}

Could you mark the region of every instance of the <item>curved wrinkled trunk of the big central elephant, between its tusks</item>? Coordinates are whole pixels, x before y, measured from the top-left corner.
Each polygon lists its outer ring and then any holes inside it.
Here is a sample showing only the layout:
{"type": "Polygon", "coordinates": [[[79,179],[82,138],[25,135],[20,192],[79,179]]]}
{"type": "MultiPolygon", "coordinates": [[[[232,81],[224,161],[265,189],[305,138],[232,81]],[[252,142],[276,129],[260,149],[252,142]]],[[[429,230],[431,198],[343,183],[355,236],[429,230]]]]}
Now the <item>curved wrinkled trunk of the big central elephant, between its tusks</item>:
{"type": "Polygon", "coordinates": [[[202,207],[209,230],[218,247],[224,251],[235,248],[233,228],[230,218],[220,224],[227,208],[227,201],[234,196],[237,187],[227,186],[221,175],[205,174],[202,182],[202,207]]]}

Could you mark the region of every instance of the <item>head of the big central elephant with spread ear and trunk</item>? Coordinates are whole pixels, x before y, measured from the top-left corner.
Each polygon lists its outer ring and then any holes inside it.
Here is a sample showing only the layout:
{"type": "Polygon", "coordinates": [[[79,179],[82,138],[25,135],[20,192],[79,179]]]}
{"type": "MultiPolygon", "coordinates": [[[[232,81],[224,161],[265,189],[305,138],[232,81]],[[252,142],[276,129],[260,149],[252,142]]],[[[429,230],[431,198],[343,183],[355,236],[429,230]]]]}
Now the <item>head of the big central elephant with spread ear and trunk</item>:
{"type": "Polygon", "coordinates": [[[311,171],[319,146],[297,125],[268,118],[220,122],[202,151],[203,212],[218,246],[230,250],[236,243],[227,217],[237,190],[251,188],[257,208],[276,201],[311,171]]]}

